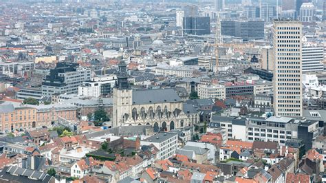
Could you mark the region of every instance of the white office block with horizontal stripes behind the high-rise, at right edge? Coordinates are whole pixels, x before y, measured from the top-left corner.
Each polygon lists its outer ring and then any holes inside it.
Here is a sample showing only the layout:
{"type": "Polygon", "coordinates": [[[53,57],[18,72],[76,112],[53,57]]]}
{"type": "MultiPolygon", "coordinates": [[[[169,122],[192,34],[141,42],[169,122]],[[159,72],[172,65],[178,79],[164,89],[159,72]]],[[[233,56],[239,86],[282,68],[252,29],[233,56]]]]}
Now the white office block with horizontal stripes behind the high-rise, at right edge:
{"type": "Polygon", "coordinates": [[[302,47],[302,72],[324,70],[324,47],[303,45],[302,47]]]}

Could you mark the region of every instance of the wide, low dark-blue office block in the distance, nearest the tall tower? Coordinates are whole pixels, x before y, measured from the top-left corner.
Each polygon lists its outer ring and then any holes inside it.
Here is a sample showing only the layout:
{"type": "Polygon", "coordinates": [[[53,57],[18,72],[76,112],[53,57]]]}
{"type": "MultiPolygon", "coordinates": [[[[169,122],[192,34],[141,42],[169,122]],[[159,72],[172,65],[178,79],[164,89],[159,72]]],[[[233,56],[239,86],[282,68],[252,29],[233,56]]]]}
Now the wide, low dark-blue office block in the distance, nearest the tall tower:
{"type": "Polygon", "coordinates": [[[264,39],[264,21],[221,21],[221,34],[235,36],[243,41],[264,39]]]}

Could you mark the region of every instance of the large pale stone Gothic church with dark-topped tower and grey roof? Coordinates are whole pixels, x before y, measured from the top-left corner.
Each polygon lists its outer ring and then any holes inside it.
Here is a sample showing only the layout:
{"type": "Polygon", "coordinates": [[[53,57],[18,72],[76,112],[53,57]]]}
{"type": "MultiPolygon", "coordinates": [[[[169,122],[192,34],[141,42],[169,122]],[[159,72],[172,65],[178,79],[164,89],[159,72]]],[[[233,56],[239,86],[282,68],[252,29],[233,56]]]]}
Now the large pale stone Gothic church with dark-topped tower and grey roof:
{"type": "MultiPolygon", "coordinates": [[[[113,89],[113,127],[151,125],[154,132],[186,127],[189,118],[183,101],[173,89],[131,89],[126,65],[119,64],[116,87],[113,89]]],[[[196,120],[197,121],[197,120],[196,120]]]]}

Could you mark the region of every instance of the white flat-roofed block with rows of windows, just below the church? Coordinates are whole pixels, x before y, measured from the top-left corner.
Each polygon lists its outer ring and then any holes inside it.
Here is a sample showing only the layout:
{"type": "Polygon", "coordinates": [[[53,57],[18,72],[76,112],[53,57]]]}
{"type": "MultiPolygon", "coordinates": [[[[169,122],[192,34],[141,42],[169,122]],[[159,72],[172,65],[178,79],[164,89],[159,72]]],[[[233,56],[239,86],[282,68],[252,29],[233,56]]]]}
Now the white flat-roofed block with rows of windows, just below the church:
{"type": "Polygon", "coordinates": [[[175,133],[157,133],[154,136],[140,141],[140,145],[153,144],[160,153],[157,160],[165,160],[171,158],[177,150],[177,134],[175,133]]]}

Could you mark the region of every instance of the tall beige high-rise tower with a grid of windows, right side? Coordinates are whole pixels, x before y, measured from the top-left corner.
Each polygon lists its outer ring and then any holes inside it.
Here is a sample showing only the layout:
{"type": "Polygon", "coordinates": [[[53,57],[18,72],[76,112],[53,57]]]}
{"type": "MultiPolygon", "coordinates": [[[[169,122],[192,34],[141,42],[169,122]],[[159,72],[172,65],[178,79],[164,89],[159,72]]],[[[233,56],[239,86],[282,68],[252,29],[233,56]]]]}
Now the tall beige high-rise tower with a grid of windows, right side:
{"type": "Polygon", "coordinates": [[[302,23],[277,20],[273,23],[274,113],[302,116],[302,23]]]}

